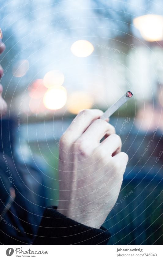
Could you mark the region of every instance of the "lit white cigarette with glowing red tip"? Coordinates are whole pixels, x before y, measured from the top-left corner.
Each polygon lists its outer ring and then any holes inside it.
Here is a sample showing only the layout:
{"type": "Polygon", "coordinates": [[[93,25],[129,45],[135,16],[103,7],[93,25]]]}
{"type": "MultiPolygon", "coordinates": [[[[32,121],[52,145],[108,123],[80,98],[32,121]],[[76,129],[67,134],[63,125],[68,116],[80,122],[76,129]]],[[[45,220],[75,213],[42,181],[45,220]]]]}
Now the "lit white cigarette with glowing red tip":
{"type": "Polygon", "coordinates": [[[101,119],[106,119],[113,115],[113,113],[118,110],[124,103],[126,103],[133,94],[131,91],[126,92],[116,103],[114,103],[111,107],[109,107],[103,115],[100,117],[101,119]]]}

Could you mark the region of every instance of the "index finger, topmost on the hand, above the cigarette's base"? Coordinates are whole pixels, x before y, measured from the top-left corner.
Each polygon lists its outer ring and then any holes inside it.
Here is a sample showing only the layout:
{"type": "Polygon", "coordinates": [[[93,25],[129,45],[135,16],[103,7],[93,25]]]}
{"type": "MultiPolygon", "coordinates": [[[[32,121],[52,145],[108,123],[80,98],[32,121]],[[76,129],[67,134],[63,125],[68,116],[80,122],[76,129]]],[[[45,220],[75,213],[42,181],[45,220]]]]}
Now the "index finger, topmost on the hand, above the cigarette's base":
{"type": "Polygon", "coordinates": [[[103,112],[98,109],[84,109],[72,121],[62,138],[70,143],[74,143],[90,126],[92,121],[98,119],[102,114],[103,112]]]}

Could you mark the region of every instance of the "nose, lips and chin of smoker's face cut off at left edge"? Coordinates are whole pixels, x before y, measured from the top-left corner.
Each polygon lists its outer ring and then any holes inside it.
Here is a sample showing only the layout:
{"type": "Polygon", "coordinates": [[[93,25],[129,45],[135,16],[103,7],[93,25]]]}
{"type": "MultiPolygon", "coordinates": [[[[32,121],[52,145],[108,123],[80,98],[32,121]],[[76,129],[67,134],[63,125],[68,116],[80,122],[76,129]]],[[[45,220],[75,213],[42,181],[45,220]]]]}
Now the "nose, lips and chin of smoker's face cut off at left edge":
{"type": "MultiPolygon", "coordinates": [[[[0,54],[5,50],[6,46],[5,44],[2,42],[2,31],[0,29],[0,54]]],[[[3,68],[2,66],[0,65],[0,78],[2,77],[3,75],[3,68]]],[[[6,111],[7,111],[7,104],[6,102],[4,101],[4,99],[2,98],[2,91],[3,91],[3,87],[2,85],[0,84],[0,116],[3,116],[6,114],[6,111]]]]}

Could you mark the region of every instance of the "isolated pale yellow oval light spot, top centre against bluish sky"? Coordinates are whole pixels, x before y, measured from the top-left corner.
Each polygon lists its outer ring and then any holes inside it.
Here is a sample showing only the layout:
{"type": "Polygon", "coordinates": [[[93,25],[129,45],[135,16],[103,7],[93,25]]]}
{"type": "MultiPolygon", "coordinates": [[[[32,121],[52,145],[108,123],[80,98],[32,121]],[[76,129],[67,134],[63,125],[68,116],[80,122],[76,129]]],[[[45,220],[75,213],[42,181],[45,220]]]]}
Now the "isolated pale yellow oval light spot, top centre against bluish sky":
{"type": "Polygon", "coordinates": [[[87,40],[78,40],[72,44],[71,51],[73,55],[83,58],[91,55],[94,51],[94,47],[92,43],[87,40]]]}

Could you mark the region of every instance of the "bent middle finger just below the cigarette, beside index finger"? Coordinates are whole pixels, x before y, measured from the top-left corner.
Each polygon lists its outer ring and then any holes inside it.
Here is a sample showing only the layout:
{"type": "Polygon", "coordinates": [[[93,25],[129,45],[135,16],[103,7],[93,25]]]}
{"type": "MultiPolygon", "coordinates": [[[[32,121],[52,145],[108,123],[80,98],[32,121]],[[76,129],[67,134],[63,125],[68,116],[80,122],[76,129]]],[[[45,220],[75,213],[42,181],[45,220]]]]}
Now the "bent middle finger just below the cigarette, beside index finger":
{"type": "Polygon", "coordinates": [[[85,139],[92,143],[99,143],[104,136],[109,136],[110,134],[115,134],[115,128],[105,120],[97,119],[91,123],[78,141],[85,139]]]}

